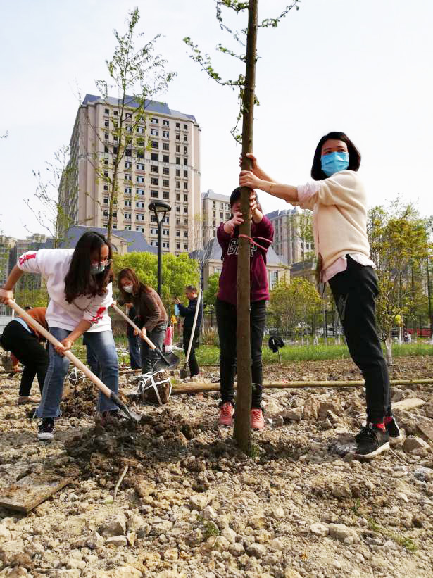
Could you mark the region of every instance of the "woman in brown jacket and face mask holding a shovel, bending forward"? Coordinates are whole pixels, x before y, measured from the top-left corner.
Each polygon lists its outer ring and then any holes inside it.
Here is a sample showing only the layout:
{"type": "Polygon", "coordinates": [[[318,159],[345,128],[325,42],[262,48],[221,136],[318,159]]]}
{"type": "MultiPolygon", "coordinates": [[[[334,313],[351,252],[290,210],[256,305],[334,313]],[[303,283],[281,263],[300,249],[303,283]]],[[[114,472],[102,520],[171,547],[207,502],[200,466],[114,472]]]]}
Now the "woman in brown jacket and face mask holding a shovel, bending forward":
{"type": "MultiPolygon", "coordinates": [[[[161,297],[155,289],[147,287],[139,281],[132,269],[123,269],[118,275],[118,287],[121,301],[132,303],[138,314],[139,327],[142,327],[140,337],[147,337],[161,351],[167,329],[167,313],[161,301],[161,297]]],[[[155,353],[142,341],[140,346],[142,355],[142,372],[149,373],[158,361],[158,353],[155,353]]]]}

